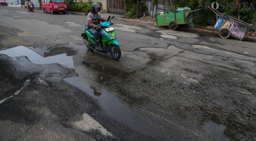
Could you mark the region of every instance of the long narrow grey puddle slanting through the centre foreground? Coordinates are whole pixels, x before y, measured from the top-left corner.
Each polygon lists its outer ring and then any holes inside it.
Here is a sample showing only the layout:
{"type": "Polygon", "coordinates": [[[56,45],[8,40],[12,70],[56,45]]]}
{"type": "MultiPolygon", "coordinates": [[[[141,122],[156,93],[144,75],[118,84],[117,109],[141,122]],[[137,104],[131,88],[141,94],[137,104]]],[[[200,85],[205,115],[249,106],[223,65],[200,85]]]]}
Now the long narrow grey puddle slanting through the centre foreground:
{"type": "Polygon", "coordinates": [[[65,78],[64,81],[79,88],[89,96],[96,99],[107,115],[115,118],[118,122],[126,124],[131,129],[142,130],[143,124],[140,119],[135,119],[136,115],[134,115],[132,108],[130,108],[126,103],[120,102],[120,100],[117,97],[114,97],[111,93],[103,89],[97,91],[96,88],[92,88],[81,82],[84,81],[82,79],[83,78],[72,77],[65,78]]]}

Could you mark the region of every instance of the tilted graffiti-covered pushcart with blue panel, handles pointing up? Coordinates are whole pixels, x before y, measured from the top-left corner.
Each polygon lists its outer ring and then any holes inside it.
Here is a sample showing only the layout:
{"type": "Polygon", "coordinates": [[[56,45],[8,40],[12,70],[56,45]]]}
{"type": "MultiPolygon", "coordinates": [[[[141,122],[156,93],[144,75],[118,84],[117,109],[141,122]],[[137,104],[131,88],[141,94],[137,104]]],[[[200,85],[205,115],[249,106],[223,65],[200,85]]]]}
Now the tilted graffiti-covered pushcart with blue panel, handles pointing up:
{"type": "Polygon", "coordinates": [[[208,8],[219,16],[214,28],[220,30],[219,35],[221,38],[226,39],[229,36],[232,36],[240,41],[245,38],[245,35],[250,30],[252,24],[248,24],[242,20],[228,16],[225,13],[219,13],[210,7],[208,8]]]}

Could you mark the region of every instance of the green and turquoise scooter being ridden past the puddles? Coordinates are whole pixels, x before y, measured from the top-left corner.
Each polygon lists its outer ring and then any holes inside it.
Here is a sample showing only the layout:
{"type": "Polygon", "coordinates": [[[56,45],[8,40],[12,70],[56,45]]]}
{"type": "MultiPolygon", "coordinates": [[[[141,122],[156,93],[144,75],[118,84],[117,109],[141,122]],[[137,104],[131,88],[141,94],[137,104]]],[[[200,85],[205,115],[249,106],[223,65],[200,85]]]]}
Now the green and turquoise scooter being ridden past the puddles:
{"type": "MultiPolygon", "coordinates": [[[[103,45],[103,50],[98,50],[98,44],[96,43],[94,36],[88,31],[87,25],[84,26],[83,30],[85,33],[82,33],[83,42],[85,43],[88,50],[97,50],[102,53],[110,53],[110,55],[118,60],[121,57],[121,49],[119,48],[119,43],[115,40],[116,33],[114,27],[109,27],[111,25],[110,17],[107,19],[107,22],[98,24],[99,27],[96,29],[101,29],[99,32],[100,42],[103,45]]],[[[112,16],[113,19],[115,16],[112,16]]],[[[94,20],[92,23],[97,23],[97,20],[94,20]]]]}

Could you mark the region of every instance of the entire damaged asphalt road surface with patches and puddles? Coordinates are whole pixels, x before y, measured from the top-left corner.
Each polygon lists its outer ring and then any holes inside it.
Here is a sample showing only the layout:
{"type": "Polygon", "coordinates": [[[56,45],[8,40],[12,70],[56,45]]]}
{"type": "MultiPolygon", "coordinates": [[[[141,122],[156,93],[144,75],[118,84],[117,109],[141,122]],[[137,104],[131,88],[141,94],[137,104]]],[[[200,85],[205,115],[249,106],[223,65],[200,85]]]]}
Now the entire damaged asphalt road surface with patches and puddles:
{"type": "Polygon", "coordinates": [[[115,20],[114,60],[85,47],[85,16],[0,17],[2,140],[255,140],[254,41],[115,20]]]}

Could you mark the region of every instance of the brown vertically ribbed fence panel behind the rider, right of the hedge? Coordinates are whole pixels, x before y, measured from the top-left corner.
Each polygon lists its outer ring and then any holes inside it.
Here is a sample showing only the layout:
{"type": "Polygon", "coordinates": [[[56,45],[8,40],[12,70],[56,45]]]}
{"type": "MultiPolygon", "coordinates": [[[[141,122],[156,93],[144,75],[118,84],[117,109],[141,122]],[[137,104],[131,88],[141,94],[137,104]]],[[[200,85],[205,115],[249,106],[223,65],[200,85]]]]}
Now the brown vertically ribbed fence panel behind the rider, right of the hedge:
{"type": "Polygon", "coordinates": [[[121,0],[107,0],[107,12],[125,14],[125,3],[121,0]]]}

